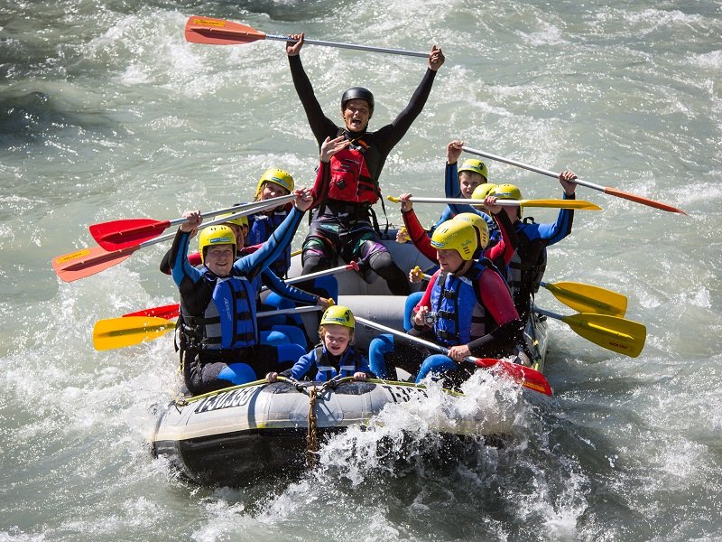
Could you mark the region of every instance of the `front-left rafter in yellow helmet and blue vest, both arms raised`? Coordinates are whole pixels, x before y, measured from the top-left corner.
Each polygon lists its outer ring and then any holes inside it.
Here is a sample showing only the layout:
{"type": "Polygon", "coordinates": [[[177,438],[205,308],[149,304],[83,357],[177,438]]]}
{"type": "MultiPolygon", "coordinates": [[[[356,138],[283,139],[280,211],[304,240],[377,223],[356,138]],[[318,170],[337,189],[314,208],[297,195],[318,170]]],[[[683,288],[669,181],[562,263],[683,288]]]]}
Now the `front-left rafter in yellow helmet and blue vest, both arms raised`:
{"type": "Polygon", "coordinates": [[[245,384],[271,370],[292,367],[303,355],[297,344],[259,342],[255,300],[263,273],[291,243],[313,198],[296,192],[294,206],[273,236],[253,254],[236,260],[236,238],[227,226],[211,226],[199,235],[203,266],[188,261],[190,238],[199,229],[198,210],[184,214],[171,247],[171,276],[180,293],[180,363],[186,388],[202,394],[245,384]],[[231,308],[231,310],[228,310],[231,308]]]}

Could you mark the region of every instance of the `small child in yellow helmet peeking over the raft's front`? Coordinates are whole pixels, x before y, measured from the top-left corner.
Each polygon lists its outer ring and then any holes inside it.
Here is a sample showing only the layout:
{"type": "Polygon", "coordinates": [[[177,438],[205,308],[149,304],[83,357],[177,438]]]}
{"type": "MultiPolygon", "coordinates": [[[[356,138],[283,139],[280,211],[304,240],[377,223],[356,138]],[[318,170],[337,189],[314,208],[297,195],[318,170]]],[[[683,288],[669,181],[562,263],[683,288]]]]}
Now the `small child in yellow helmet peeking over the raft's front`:
{"type": "MultiPolygon", "coordinates": [[[[355,328],[356,319],[351,309],[344,305],[329,307],[321,317],[321,342],[280,375],[296,380],[306,377],[316,382],[327,382],[337,377],[353,377],[356,380],[375,378],[364,354],[354,348],[355,328]]],[[[275,371],[265,376],[268,382],[275,382],[278,377],[279,373],[275,371]]]]}

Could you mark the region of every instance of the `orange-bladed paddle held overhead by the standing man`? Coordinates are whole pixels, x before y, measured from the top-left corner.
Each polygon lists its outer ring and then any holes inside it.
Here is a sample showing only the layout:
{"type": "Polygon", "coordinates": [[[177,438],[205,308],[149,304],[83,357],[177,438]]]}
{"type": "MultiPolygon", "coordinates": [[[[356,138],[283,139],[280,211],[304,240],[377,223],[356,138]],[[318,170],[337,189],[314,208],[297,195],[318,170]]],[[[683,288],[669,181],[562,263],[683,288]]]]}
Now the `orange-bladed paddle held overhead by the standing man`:
{"type": "MultiPolygon", "coordinates": [[[[186,22],[186,40],[191,43],[207,43],[209,45],[237,45],[251,43],[258,40],[276,40],[279,42],[296,42],[289,36],[273,35],[256,30],[243,23],[234,23],[225,19],[193,15],[186,22]]],[[[341,49],[356,49],[358,51],[387,52],[389,54],[403,54],[427,58],[429,53],[421,51],[404,51],[403,49],[388,49],[386,47],[372,47],[368,45],[355,45],[352,43],[322,42],[320,40],[303,40],[310,45],[325,45],[341,49]]]]}

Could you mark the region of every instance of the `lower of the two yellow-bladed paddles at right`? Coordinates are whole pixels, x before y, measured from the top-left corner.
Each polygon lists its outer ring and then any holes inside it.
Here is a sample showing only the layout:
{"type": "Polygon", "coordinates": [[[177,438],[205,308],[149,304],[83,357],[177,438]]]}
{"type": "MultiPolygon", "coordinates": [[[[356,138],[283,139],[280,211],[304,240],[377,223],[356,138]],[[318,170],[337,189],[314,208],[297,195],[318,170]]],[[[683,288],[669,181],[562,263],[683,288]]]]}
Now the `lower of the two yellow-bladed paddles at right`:
{"type": "Polygon", "coordinates": [[[602,348],[636,358],[644,348],[647,329],[643,324],[608,314],[579,313],[570,316],[534,307],[534,312],[561,320],[573,332],[602,348]]]}

